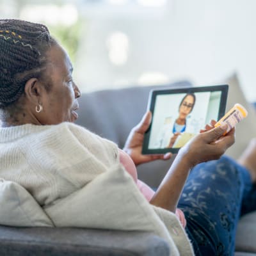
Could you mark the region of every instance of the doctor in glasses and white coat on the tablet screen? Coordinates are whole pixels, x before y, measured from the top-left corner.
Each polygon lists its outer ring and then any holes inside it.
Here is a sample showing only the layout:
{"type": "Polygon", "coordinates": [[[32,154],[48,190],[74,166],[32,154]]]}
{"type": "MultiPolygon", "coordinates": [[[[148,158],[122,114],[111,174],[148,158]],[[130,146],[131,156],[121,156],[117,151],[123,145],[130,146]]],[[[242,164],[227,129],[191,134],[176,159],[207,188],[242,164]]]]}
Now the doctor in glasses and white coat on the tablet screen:
{"type": "Polygon", "coordinates": [[[177,137],[187,131],[186,118],[195,106],[196,97],[194,93],[187,93],[180,102],[179,116],[174,118],[168,116],[157,137],[158,148],[172,148],[177,137]]]}

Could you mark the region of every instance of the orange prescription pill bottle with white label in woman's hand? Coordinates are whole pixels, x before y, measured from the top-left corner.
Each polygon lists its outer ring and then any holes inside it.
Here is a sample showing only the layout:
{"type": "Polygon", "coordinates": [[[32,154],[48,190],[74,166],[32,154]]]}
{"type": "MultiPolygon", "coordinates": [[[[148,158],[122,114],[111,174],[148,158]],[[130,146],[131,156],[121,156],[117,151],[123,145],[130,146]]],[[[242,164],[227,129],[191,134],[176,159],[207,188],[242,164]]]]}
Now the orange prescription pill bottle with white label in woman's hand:
{"type": "Polygon", "coordinates": [[[237,123],[243,120],[248,115],[247,110],[239,103],[235,104],[230,111],[228,111],[223,118],[221,118],[214,126],[218,127],[222,124],[227,124],[228,129],[224,135],[229,132],[237,123]]]}

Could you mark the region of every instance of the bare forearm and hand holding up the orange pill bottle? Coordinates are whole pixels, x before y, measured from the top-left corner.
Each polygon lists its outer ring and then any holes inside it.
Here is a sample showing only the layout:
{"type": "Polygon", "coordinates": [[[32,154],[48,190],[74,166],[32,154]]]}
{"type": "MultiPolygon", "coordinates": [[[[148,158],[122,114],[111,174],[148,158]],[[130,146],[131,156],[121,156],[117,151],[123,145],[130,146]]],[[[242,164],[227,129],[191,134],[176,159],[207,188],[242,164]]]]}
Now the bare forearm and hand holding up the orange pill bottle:
{"type": "Polygon", "coordinates": [[[155,195],[150,200],[150,204],[175,212],[191,168],[198,163],[220,158],[227,148],[234,143],[234,128],[223,136],[227,130],[227,125],[216,128],[213,128],[213,125],[214,122],[207,125],[204,132],[180,148],[179,154],[177,154],[155,195]]]}

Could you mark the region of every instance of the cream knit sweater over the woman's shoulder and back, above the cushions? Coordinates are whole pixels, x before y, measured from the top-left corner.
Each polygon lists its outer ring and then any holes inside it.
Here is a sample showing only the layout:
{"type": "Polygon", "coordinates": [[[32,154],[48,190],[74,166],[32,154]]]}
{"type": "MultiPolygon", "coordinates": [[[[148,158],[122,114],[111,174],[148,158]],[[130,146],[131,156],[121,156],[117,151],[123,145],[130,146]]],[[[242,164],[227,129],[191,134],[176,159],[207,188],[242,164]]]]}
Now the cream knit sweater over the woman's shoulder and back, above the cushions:
{"type": "Polygon", "coordinates": [[[0,128],[0,177],[48,205],[119,162],[118,147],[75,124],[0,128]],[[86,171],[86,175],[85,175],[86,171]]]}

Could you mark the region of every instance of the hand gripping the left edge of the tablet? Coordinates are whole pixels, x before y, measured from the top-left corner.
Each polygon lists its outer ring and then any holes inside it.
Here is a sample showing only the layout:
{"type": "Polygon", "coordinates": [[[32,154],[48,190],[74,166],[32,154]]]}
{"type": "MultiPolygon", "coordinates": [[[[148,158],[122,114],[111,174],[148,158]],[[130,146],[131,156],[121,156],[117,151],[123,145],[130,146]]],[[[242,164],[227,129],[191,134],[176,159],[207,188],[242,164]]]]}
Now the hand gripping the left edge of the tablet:
{"type": "Polygon", "coordinates": [[[141,122],[138,125],[136,125],[136,127],[132,128],[124,146],[124,151],[127,154],[129,154],[129,156],[134,161],[134,164],[136,165],[154,161],[156,159],[165,160],[165,159],[170,159],[172,157],[171,153],[157,154],[157,155],[141,154],[144,134],[150,125],[151,118],[152,118],[151,112],[147,111],[147,113],[145,113],[145,115],[141,119],[141,122]]]}

